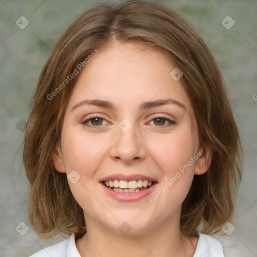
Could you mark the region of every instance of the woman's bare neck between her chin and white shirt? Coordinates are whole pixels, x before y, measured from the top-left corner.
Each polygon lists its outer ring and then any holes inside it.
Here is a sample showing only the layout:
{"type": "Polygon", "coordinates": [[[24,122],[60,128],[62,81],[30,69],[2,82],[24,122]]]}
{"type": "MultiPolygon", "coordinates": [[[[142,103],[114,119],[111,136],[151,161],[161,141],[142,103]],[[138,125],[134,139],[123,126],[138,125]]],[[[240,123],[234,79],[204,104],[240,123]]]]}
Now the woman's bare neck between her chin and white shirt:
{"type": "Polygon", "coordinates": [[[145,233],[122,234],[86,217],[87,232],[76,241],[82,257],[87,256],[176,256],[192,257],[198,237],[186,237],[179,222],[167,220],[145,233]]]}

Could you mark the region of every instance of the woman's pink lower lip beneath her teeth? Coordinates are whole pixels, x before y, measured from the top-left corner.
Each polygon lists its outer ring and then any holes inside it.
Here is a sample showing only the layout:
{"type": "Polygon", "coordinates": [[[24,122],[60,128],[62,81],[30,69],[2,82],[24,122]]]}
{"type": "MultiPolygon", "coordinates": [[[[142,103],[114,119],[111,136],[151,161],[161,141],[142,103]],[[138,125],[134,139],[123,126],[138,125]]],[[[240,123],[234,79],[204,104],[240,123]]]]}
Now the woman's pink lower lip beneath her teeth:
{"type": "Polygon", "coordinates": [[[134,201],[138,201],[138,200],[146,197],[147,195],[151,194],[158,183],[156,182],[150,188],[145,189],[143,191],[135,192],[135,193],[116,192],[116,191],[104,186],[102,182],[100,182],[100,184],[101,184],[103,190],[109,196],[113,197],[114,199],[116,199],[118,201],[122,201],[122,202],[134,202],[134,201]]]}

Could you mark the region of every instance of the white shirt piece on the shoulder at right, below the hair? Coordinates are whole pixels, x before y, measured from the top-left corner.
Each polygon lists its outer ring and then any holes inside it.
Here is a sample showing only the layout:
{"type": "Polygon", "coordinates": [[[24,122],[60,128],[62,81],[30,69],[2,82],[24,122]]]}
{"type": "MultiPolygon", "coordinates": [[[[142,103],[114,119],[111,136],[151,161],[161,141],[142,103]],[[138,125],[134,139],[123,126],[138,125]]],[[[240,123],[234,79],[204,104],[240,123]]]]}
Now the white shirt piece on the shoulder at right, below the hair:
{"type": "Polygon", "coordinates": [[[224,257],[221,242],[209,235],[198,233],[199,239],[193,257],[224,257]]]}

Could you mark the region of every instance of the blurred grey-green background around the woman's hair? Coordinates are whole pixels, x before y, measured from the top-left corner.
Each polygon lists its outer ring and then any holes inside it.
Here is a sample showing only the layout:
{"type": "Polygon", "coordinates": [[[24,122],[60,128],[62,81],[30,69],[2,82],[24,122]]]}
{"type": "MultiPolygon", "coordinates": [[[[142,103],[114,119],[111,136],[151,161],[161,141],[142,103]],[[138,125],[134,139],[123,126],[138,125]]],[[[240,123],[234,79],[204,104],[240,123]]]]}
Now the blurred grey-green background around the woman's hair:
{"type": "MultiPolygon", "coordinates": [[[[159,2],[186,18],[212,51],[242,140],[243,180],[232,222],[235,230],[229,236],[222,230],[213,236],[222,241],[225,256],[257,256],[257,1],[159,2]],[[235,22],[230,29],[221,23],[227,16],[235,22]]],[[[0,256],[29,256],[64,239],[43,243],[28,222],[29,183],[20,146],[31,97],[54,44],[70,23],[96,3],[101,1],[0,0],[0,256]],[[21,16],[29,21],[24,30],[16,25],[21,16]],[[20,222],[29,228],[24,235],[18,232],[21,225],[26,227],[20,222]]]]}

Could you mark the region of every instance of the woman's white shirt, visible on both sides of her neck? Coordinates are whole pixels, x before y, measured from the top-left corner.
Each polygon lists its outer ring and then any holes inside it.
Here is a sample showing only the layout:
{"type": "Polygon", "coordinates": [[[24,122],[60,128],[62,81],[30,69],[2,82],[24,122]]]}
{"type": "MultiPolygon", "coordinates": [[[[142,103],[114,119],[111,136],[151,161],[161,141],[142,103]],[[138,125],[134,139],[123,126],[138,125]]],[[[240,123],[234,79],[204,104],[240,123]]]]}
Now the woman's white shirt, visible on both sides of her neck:
{"type": "MultiPolygon", "coordinates": [[[[211,236],[198,233],[199,239],[193,257],[224,257],[221,242],[211,236]]],[[[81,257],[75,243],[75,236],[46,247],[29,257],[81,257]]],[[[96,255],[97,256],[97,255],[96,255]]]]}

